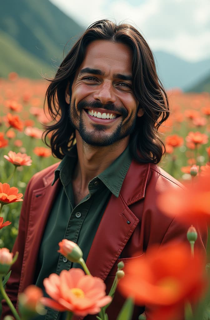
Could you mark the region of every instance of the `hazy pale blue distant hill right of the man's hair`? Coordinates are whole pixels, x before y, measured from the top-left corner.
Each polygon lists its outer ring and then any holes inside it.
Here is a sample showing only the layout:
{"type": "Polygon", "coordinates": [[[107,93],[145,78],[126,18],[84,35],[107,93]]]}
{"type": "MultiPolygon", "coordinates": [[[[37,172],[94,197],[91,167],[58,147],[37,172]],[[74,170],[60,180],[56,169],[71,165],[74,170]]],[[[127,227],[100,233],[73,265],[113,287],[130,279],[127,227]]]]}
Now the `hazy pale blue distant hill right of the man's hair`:
{"type": "Polygon", "coordinates": [[[154,55],[158,74],[167,89],[179,87],[185,91],[210,73],[210,59],[189,62],[162,51],[154,55]]]}

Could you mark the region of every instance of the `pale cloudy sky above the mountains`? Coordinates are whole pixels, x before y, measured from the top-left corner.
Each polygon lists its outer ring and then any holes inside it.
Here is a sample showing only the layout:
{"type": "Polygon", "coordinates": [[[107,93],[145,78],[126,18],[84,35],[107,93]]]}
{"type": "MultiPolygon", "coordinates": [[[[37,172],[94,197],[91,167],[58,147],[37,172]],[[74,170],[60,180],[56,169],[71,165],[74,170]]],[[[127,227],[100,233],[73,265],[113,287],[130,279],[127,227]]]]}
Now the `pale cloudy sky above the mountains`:
{"type": "Polygon", "coordinates": [[[84,28],[109,18],[136,26],[153,51],[210,58],[210,0],[50,0],[84,28]]]}

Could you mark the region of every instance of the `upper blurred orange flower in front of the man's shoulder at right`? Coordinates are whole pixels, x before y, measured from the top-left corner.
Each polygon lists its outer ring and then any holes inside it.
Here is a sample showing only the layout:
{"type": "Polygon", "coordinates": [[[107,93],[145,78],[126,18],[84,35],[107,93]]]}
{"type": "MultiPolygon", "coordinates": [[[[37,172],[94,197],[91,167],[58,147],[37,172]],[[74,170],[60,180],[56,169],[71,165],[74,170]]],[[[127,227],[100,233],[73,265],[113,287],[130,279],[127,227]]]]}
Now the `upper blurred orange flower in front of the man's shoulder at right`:
{"type": "Polygon", "coordinates": [[[182,190],[170,189],[158,197],[160,210],[171,217],[177,217],[187,226],[193,224],[206,228],[210,223],[210,171],[206,170],[194,183],[186,184],[182,190]],[[170,203],[170,205],[168,205],[170,203]]]}

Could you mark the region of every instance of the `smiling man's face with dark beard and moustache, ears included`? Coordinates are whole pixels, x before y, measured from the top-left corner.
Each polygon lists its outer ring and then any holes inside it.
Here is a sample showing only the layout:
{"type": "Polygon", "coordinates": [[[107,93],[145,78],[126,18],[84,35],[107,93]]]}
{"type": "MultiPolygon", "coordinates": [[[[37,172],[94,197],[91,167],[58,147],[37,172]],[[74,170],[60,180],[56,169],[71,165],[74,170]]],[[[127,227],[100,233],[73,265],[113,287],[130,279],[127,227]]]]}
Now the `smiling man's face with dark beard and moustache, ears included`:
{"type": "Polygon", "coordinates": [[[87,144],[109,146],[128,137],[143,115],[132,92],[132,58],[125,44],[96,40],[87,46],[71,99],[66,90],[70,121],[87,144]]]}

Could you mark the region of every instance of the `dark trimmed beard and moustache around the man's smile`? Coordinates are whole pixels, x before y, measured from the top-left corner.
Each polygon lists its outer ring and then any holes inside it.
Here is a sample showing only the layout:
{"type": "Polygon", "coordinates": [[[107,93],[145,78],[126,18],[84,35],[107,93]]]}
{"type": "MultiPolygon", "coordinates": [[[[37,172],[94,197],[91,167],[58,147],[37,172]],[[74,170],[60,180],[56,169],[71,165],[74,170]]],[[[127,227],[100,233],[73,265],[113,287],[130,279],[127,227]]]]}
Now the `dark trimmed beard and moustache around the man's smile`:
{"type": "Polygon", "coordinates": [[[131,116],[129,119],[127,119],[126,123],[123,124],[119,123],[117,128],[111,133],[107,134],[105,132],[107,125],[103,124],[92,124],[93,128],[95,129],[93,132],[88,132],[85,128],[84,120],[81,116],[82,110],[85,109],[85,107],[93,107],[94,108],[104,108],[113,112],[119,112],[122,114],[122,121],[126,118],[128,112],[125,108],[117,108],[113,104],[107,104],[103,105],[101,102],[93,101],[93,102],[87,102],[87,101],[81,101],[78,103],[78,111],[80,111],[80,116],[77,114],[77,110],[75,107],[75,102],[73,105],[70,104],[69,107],[69,121],[70,124],[79,132],[79,135],[81,136],[82,140],[95,147],[108,147],[110,145],[113,145],[119,140],[122,140],[123,138],[130,135],[136,125],[136,114],[134,115],[133,112],[131,113],[131,116]],[[70,110],[71,108],[71,110],[70,110]],[[133,121],[131,120],[133,118],[133,121]],[[75,120],[75,123],[74,123],[75,120]],[[131,124],[129,125],[129,123],[131,124]],[[79,123],[77,125],[77,123],[79,123]]]}

